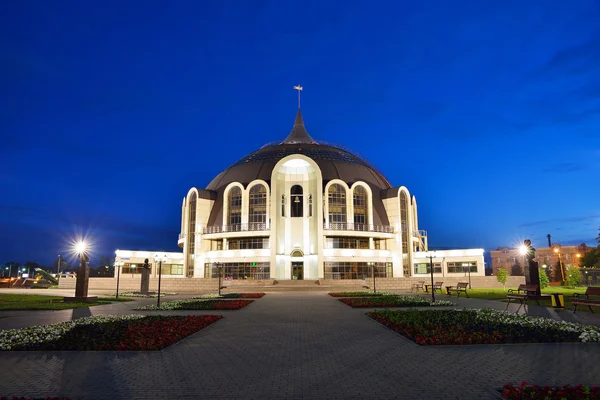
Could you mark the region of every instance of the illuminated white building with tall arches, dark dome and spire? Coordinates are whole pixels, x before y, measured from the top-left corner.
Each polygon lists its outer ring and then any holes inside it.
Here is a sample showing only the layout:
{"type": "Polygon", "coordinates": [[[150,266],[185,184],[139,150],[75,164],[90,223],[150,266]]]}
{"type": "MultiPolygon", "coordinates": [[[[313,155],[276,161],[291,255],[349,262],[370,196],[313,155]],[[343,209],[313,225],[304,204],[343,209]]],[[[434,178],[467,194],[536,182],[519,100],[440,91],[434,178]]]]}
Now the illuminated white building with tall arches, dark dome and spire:
{"type": "Polygon", "coordinates": [[[280,142],[191,188],[181,207],[182,275],[226,280],[347,280],[484,275],[483,250],[426,258],[417,201],[363,157],[319,142],[298,109],[280,142]]]}

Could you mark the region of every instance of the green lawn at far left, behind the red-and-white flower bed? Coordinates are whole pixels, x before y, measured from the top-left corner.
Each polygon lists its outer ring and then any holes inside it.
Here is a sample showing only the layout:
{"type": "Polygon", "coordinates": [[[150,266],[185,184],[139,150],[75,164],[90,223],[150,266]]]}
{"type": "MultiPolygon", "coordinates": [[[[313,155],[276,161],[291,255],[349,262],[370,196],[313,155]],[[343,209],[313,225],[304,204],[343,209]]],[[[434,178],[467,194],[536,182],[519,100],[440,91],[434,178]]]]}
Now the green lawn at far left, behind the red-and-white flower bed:
{"type": "Polygon", "coordinates": [[[0,310],[67,310],[71,308],[109,304],[112,301],[131,301],[131,299],[99,298],[88,303],[65,303],[63,296],[44,296],[39,294],[0,294],[0,310]]]}

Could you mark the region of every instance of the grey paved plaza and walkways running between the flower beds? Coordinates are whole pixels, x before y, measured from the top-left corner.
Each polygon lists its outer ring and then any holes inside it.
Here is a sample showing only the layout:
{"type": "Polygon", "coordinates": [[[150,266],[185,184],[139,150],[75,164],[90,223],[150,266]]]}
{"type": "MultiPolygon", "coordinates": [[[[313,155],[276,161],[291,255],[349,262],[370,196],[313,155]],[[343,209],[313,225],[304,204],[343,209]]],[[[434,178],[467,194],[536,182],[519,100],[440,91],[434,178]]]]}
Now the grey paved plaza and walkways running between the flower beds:
{"type": "MultiPolygon", "coordinates": [[[[0,319],[0,329],[87,315],[130,314],[133,307],[154,301],[64,311],[0,312],[7,317],[0,319]]],[[[501,302],[463,298],[457,304],[505,307],[501,302]]],[[[326,292],[273,292],[241,310],[193,312],[225,318],[162,351],[0,352],[0,395],[494,399],[498,397],[493,388],[522,380],[542,385],[600,384],[600,344],[421,347],[370,320],[365,312],[326,292]]],[[[598,314],[573,316],[536,306],[528,312],[600,325],[598,314]]]]}

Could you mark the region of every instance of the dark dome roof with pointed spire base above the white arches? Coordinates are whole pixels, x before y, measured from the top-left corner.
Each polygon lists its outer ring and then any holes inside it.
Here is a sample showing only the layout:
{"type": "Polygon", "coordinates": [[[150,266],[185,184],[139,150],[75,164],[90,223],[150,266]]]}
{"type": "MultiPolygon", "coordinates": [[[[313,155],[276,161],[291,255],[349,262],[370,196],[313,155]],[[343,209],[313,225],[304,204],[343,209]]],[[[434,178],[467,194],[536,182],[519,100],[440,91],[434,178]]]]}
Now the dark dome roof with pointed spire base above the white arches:
{"type": "Polygon", "coordinates": [[[283,142],[265,145],[243,157],[217,175],[206,189],[219,191],[231,182],[247,184],[255,179],[270,182],[275,165],[292,154],[313,159],[321,169],[324,182],[341,179],[347,183],[364,181],[379,189],[391,187],[388,180],[362,157],[341,147],[315,141],[304,128],[298,110],[294,128],[283,142]]]}

